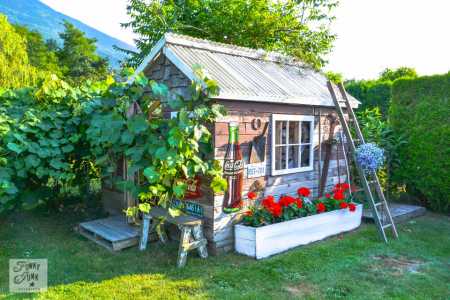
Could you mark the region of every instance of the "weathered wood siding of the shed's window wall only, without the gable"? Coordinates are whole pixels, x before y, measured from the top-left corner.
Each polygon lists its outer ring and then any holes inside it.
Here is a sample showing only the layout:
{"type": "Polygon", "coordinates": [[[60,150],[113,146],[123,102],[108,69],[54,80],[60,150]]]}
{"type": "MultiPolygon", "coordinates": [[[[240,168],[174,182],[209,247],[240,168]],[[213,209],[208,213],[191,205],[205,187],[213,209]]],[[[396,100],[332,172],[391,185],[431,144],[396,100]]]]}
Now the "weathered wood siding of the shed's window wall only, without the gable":
{"type": "MultiPolygon", "coordinates": [[[[255,182],[259,182],[263,186],[264,195],[280,196],[282,194],[296,195],[299,187],[305,186],[313,191],[313,195],[318,195],[319,188],[319,123],[322,142],[322,160],[325,156],[324,153],[324,141],[328,138],[330,121],[327,115],[332,112],[329,108],[313,108],[312,106],[300,106],[300,105],[285,105],[285,104],[269,104],[269,103],[254,103],[254,102],[240,102],[240,101],[220,101],[227,110],[228,115],[215,123],[214,131],[214,146],[215,146],[215,158],[219,161],[223,161],[226,147],[228,143],[228,122],[239,122],[239,142],[241,145],[241,151],[244,159],[248,159],[250,152],[250,143],[258,135],[262,134],[264,124],[269,123],[269,127],[266,132],[266,176],[257,178],[246,178],[244,180],[244,194],[251,190],[255,182]],[[289,114],[289,115],[309,115],[315,116],[314,118],[314,169],[307,172],[292,173],[287,175],[271,175],[271,142],[272,142],[272,126],[271,116],[272,114],[289,114]],[[260,129],[255,130],[252,127],[252,121],[254,119],[260,119],[262,126],[260,129]]],[[[335,132],[340,130],[339,126],[336,127],[335,132]]],[[[346,180],[346,166],[342,151],[339,151],[340,144],[334,145],[332,148],[332,155],[330,161],[330,168],[328,172],[327,184],[325,191],[330,190],[340,180],[346,180]],[[339,168],[338,160],[339,156],[339,168]],[[338,172],[338,169],[340,173],[338,172]]],[[[233,249],[233,224],[240,219],[240,214],[225,214],[222,212],[223,195],[215,195],[214,197],[214,236],[213,244],[216,252],[228,251],[233,249]]]]}

